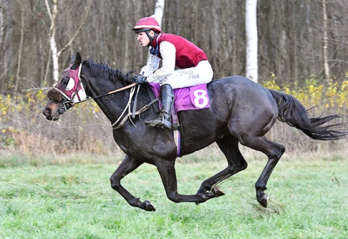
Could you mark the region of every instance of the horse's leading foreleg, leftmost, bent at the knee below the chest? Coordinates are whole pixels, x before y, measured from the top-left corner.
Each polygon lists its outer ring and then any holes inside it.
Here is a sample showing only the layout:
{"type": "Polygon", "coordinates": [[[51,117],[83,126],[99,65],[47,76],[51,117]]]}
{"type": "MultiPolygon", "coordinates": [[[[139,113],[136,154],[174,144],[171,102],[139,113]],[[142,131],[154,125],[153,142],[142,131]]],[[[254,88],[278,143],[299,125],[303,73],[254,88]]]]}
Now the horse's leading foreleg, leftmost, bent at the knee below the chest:
{"type": "Polygon", "coordinates": [[[110,182],[112,184],[112,188],[115,189],[119,194],[121,194],[121,196],[126,199],[129,205],[136,206],[146,211],[156,211],[150,201],[140,201],[135,196],[130,194],[129,191],[124,189],[124,187],[122,187],[121,185],[121,179],[124,178],[126,174],[134,171],[134,169],[139,167],[141,164],[143,164],[143,162],[139,162],[135,160],[134,157],[126,155],[119,167],[112,174],[112,177],[110,177],[110,182]]]}

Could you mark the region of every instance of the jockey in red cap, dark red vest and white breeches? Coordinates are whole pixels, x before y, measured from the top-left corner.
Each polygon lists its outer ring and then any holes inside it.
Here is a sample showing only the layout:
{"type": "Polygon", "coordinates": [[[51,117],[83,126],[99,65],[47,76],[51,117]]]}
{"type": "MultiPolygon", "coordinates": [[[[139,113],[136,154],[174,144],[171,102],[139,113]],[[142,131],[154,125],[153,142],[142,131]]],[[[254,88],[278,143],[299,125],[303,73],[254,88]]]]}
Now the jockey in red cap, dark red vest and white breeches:
{"type": "Polygon", "coordinates": [[[141,68],[143,75],[134,77],[136,84],[159,82],[161,86],[163,109],[160,117],[145,123],[153,127],[171,128],[173,89],[211,82],[212,66],[205,52],[190,41],[179,35],[161,33],[161,27],[153,17],[141,18],[132,30],[138,34],[136,39],[139,45],[150,47],[148,63],[141,68]],[[161,60],[162,67],[158,68],[161,60]]]}

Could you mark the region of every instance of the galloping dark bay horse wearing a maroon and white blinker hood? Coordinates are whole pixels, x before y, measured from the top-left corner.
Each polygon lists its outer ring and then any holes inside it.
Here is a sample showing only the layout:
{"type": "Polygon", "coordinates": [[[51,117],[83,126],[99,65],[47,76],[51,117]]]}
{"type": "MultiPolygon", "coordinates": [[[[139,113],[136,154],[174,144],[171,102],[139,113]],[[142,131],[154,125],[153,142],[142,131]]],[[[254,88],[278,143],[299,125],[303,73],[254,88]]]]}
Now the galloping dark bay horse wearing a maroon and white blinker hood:
{"type": "MultiPolygon", "coordinates": [[[[129,104],[134,105],[134,96],[131,95],[131,87],[114,94],[109,92],[133,83],[133,79],[121,70],[114,70],[93,60],[82,62],[80,53],[77,52],[56,87],[48,91],[49,99],[43,114],[50,121],[58,120],[60,114],[83,101],[87,94],[94,98],[109,121],[115,125],[121,119],[124,109],[129,104]]],[[[285,151],[283,145],[264,136],[277,119],[298,128],[315,140],[338,140],[348,134],[344,123],[327,124],[342,116],[310,118],[305,107],[293,96],[265,89],[245,77],[216,79],[207,84],[207,89],[211,106],[209,109],[178,112],[184,135],[181,150],[183,155],[188,155],[216,142],[227,158],[227,167],[202,182],[197,194],[179,194],[175,174],[177,146],[171,130],[152,128],[143,123],[143,120],[156,117],[158,111],[154,107],[143,111],[141,118],[137,115],[131,119],[126,115],[123,125],[113,130],[114,140],[126,156],[110,180],[112,188],[131,206],[155,211],[150,201],[140,201],[121,185],[121,179],[144,162],[156,166],[165,193],[171,201],[199,204],[224,195],[216,184],[247,167],[246,160],[239,151],[241,143],[268,157],[266,167],[255,184],[256,199],[266,207],[268,195],[264,191],[267,189],[268,178],[285,151]]],[[[146,87],[140,88],[137,98],[137,109],[151,101],[146,87]]]]}

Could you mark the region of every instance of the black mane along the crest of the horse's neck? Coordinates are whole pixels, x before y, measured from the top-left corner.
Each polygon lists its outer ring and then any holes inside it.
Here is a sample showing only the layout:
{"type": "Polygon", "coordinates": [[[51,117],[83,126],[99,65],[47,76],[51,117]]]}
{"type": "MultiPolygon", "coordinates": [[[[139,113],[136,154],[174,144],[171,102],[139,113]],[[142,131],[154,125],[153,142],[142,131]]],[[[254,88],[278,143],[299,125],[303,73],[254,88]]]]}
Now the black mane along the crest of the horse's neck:
{"type": "Polygon", "coordinates": [[[129,74],[133,73],[134,71],[124,74],[124,72],[121,70],[114,69],[107,65],[107,63],[95,62],[92,59],[84,60],[82,65],[85,64],[89,65],[89,70],[94,77],[105,77],[107,79],[111,79],[113,82],[121,79],[124,84],[134,83],[132,77],[129,77],[129,74]]]}

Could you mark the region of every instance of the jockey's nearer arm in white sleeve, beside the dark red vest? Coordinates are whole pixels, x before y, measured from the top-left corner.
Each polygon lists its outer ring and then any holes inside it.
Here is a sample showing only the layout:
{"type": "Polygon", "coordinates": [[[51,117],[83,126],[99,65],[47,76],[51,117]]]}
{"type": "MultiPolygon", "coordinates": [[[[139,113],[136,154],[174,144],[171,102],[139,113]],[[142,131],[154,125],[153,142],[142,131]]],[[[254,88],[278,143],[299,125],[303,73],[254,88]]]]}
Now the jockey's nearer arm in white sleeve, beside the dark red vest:
{"type": "Polygon", "coordinates": [[[172,74],[175,70],[175,46],[168,41],[163,41],[160,45],[160,52],[162,56],[162,67],[153,74],[148,75],[147,81],[150,83],[163,78],[163,76],[172,74]]]}

